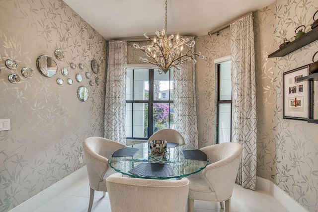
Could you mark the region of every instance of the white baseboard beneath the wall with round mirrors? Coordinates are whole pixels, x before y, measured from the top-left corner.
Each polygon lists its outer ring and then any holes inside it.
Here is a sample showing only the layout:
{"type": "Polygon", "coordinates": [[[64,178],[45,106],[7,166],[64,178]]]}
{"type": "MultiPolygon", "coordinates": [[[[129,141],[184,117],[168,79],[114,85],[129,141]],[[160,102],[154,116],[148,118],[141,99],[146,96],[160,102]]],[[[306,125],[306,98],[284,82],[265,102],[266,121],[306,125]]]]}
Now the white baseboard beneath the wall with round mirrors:
{"type": "Polygon", "coordinates": [[[70,187],[75,181],[83,177],[87,177],[86,166],[79,168],[72,174],[66,176],[60,181],[54,183],[52,186],[44,189],[40,193],[34,195],[30,199],[11,209],[9,212],[34,212],[35,210],[43,206],[46,202],[50,201],[52,198],[60,194],[63,190],[70,187]]]}

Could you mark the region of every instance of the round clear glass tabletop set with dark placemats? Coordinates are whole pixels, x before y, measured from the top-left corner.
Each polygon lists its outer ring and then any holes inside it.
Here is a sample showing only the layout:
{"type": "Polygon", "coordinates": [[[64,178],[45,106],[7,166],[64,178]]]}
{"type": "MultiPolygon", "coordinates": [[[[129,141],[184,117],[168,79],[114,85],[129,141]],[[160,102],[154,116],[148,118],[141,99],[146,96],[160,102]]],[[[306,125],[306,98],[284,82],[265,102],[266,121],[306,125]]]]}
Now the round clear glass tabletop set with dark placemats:
{"type": "Polygon", "coordinates": [[[121,148],[108,160],[117,172],[149,179],[185,177],[201,171],[208,162],[204,152],[184,144],[168,143],[164,155],[153,155],[148,142],[121,148]]]}

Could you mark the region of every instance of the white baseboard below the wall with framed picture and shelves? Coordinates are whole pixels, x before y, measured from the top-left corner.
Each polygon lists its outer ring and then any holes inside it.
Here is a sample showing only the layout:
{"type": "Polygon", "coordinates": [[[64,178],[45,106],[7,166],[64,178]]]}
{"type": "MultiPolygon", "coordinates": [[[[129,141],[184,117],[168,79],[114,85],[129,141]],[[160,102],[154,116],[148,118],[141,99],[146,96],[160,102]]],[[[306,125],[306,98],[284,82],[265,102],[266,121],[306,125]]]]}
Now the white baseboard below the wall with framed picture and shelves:
{"type": "Polygon", "coordinates": [[[270,193],[289,212],[308,212],[308,210],[270,180],[256,176],[256,188],[270,193]]]}

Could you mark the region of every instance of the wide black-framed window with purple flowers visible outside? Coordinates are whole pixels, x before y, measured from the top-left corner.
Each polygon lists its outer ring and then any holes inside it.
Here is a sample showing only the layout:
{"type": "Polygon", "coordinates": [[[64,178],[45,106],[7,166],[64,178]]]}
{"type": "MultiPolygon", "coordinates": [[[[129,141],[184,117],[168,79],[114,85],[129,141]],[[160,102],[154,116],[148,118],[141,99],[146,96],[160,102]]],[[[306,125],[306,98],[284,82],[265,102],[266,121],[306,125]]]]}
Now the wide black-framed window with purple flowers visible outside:
{"type": "Polygon", "coordinates": [[[126,138],[147,140],[158,130],[173,129],[173,71],[128,69],[126,138]]]}

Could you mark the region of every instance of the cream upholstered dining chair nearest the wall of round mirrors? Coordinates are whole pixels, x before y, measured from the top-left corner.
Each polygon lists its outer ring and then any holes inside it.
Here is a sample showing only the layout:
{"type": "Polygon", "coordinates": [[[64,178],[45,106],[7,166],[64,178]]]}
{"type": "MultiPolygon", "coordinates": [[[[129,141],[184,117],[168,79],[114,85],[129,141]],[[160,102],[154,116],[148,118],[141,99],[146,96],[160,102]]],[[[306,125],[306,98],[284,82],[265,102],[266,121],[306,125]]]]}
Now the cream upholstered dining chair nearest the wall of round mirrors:
{"type": "Polygon", "coordinates": [[[102,191],[103,197],[105,197],[107,191],[106,178],[116,172],[109,168],[108,156],[126,145],[101,137],[87,138],[82,145],[90,186],[88,204],[88,212],[90,212],[94,201],[94,192],[102,191]]]}

